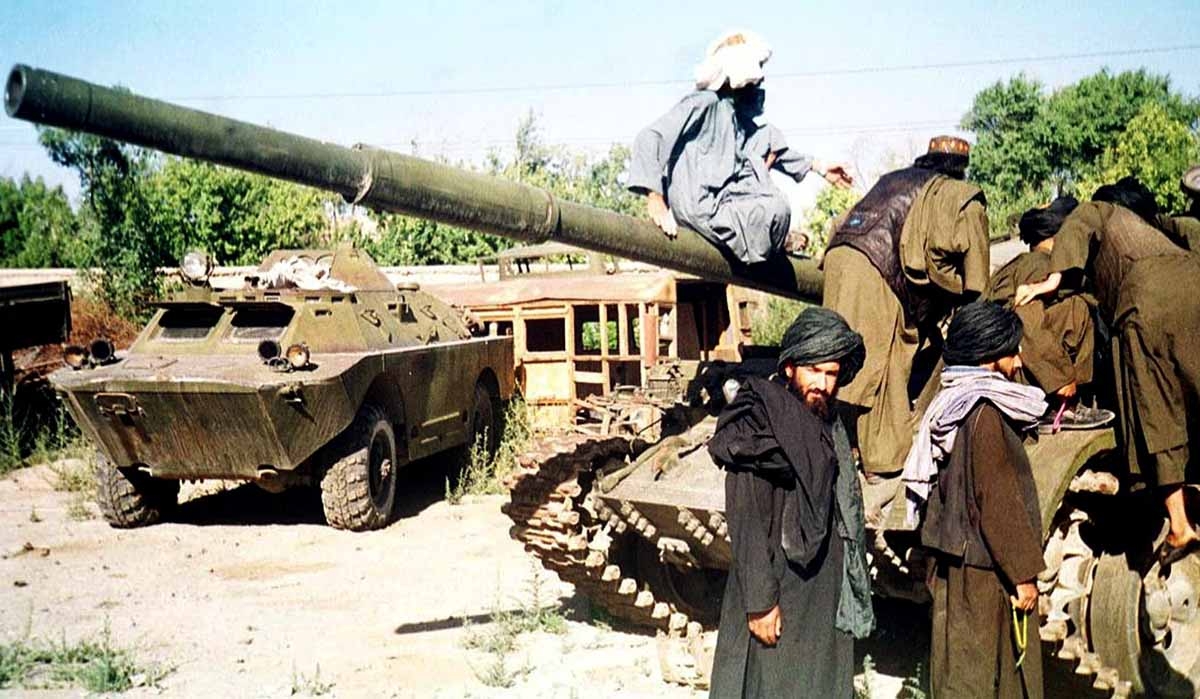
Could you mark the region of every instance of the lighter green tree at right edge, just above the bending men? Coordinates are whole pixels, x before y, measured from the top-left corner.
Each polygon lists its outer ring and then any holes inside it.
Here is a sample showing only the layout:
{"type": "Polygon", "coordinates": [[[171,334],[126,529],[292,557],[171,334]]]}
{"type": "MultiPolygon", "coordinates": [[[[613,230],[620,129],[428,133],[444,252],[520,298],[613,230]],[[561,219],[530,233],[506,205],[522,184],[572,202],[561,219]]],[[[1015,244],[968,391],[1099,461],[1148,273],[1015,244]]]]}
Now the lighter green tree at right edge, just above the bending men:
{"type": "Polygon", "coordinates": [[[1079,184],[1091,197],[1097,187],[1126,175],[1142,181],[1164,211],[1178,211],[1188,199],[1180,190],[1180,174],[1200,162],[1200,136],[1172,118],[1160,103],[1146,102],[1116,142],[1100,154],[1096,168],[1079,184]]]}

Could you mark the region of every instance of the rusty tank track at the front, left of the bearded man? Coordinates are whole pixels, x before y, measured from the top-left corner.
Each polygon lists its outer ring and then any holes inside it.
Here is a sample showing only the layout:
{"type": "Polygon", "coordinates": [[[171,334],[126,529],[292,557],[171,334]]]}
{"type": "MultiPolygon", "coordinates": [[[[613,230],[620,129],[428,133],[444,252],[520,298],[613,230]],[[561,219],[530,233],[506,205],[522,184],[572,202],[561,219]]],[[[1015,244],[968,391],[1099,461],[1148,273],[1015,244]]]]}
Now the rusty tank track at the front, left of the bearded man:
{"type": "MultiPolygon", "coordinates": [[[[658,629],[664,680],[706,688],[715,634],[620,566],[618,537],[634,528],[656,544],[653,525],[631,508],[622,514],[593,496],[598,472],[625,464],[632,449],[629,438],[616,436],[566,434],[541,440],[517,458],[517,470],[505,482],[510,501],[502,510],[514,522],[512,538],[546,569],[613,619],[658,629]]],[[[701,534],[697,543],[704,538],[701,534]]]]}

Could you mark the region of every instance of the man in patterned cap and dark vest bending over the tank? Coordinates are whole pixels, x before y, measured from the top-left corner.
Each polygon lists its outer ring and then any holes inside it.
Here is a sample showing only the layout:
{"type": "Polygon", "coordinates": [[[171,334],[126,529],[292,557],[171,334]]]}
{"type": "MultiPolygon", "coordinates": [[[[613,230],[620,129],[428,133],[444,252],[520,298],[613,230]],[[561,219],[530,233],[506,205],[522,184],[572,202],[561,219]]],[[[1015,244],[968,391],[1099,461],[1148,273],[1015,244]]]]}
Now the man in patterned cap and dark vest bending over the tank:
{"type": "MultiPolygon", "coordinates": [[[[869,484],[904,465],[940,359],[940,323],[988,288],[986,202],[964,181],[968,154],[960,138],[930,141],[929,153],[880,178],[851,209],[824,256],[823,305],[871,347],[862,376],[841,395],[857,414],[869,484]]],[[[881,485],[888,497],[895,492],[881,485]]],[[[868,516],[878,507],[869,506],[868,516]]]]}

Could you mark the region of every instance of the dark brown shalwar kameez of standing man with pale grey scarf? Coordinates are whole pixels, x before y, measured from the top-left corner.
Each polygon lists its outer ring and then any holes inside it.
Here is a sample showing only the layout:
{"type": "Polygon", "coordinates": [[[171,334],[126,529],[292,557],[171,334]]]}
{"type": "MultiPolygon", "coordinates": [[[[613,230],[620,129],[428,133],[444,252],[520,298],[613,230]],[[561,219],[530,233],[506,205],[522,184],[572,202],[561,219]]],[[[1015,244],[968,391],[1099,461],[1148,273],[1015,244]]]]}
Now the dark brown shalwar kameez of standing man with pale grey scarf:
{"type": "Polygon", "coordinates": [[[1018,667],[1009,599],[1018,582],[1044,568],[1037,489],[1020,437],[991,404],[976,407],[959,429],[931,494],[922,542],[935,548],[936,561],[930,574],[932,695],[1039,699],[1038,615],[1028,615],[1025,657],[1018,667]],[[955,498],[956,506],[949,502],[955,498]],[[962,555],[937,550],[956,538],[949,513],[964,506],[974,531],[960,544],[962,555]]]}

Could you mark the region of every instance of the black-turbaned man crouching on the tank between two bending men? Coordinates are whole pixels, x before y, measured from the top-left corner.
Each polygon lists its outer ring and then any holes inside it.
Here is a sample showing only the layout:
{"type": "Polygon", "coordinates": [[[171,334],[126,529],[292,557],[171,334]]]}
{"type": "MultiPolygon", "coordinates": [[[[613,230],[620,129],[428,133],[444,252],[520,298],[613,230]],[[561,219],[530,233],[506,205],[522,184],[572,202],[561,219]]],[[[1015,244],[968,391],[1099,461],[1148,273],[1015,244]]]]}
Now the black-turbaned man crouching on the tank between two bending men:
{"type": "MultiPolygon", "coordinates": [[[[1050,274],[1054,235],[1078,205],[1075,197],[1058,197],[1045,208],[1030,209],[1021,215],[1020,235],[1030,251],[1018,255],[992,275],[988,299],[1012,305],[1018,286],[1040,281],[1050,274]]],[[[1064,429],[1096,428],[1112,419],[1109,411],[1076,404],[1080,387],[1092,382],[1094,305],[1096,300],[1087,294],[1061,293],[1016,309],[1025,329],[1021,337],[1024,370],[1019,380],[1057,395],[1066,404],[1063,408],[1070,406],[1058,416],[1057,422],[1064,429]]]]}

